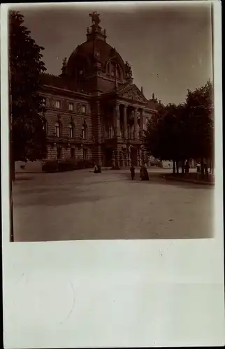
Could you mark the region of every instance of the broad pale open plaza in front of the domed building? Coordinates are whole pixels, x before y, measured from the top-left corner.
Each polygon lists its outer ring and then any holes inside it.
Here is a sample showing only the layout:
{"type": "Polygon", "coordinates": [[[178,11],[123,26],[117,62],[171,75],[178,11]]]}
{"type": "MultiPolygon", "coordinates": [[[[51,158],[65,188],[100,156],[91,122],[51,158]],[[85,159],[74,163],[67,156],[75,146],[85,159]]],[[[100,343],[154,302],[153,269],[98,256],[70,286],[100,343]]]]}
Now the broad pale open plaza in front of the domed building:
{"type": "Polygon", "coordinates": [[[213,187],[149,173],[150,181],[131,181],[129,170],[17,174],[15,242],[211,237],[213,187]]]}

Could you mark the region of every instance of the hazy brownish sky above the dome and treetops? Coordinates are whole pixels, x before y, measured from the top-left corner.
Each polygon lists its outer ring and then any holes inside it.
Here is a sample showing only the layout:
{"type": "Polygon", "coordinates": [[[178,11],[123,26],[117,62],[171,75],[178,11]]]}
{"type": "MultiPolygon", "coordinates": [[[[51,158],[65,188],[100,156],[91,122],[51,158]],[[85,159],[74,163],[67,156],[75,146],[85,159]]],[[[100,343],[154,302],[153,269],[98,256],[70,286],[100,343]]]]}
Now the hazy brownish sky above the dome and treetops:
{"type": "Polygon", "coordinates": [[[98,11],[107,43],[133,70],[133,83],[162,103],[182,103],[187,89],[212,80],[210,3],[52,3],[13,6],[38,45],[50,74],[59,75],[64,57],[86,40],[89,13],[98,11]]]}

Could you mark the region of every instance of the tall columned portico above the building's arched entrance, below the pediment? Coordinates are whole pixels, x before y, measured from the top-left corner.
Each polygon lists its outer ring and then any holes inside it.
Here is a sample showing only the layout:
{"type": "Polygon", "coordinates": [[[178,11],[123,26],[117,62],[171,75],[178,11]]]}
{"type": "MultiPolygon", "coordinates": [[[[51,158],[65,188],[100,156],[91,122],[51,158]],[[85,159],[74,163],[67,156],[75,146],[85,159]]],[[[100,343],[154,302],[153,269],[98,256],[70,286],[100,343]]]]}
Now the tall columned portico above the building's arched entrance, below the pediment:
{"type": "MultiPolygon", "coordinates": [[[[113,98],[105,109],[103,107],[103,143],[106,157],[111,154],[112,166],[116,168],[147,162],[143,147],[145,104],[132,102],[113,98]]],[[[109,158],[103,160],[103,163],[108,162],[109,158]]]]}

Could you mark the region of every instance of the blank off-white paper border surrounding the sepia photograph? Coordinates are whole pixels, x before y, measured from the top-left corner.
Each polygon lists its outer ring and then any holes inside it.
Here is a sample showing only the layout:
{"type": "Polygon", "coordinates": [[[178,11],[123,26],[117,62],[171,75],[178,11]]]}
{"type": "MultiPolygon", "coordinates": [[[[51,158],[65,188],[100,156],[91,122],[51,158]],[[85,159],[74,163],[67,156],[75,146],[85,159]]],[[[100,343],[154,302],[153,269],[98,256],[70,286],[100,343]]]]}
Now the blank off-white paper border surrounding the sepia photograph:
{"type": "Polygon", "coordinates": [[[9,5],[1,4],[4,348],[224,346],[222,4],[212,3],[215,238],[36,243],[9,242],[9,5]]]}

